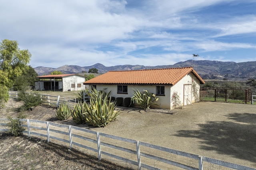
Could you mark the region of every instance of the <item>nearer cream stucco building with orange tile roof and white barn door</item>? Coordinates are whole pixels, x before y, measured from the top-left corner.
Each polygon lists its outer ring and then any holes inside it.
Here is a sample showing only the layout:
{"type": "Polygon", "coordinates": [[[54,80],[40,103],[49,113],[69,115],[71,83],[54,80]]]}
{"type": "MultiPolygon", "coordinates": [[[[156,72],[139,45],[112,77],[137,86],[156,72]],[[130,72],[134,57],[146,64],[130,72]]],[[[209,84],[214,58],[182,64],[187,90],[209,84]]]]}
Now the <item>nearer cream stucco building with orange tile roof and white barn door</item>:
{"type": "Polygon", "coordinates": [[[109,71],[84,82],[96,90],[110,92],[110,96],[115,98],[132,97],[133,89],[147,90],[159,98],[158,106],[152,107],[164,109],[174,108],[174,94],[177,94],[181,106],[199,100],[200,84],[204,84],[204,80],[192,67],[109,71]]]}

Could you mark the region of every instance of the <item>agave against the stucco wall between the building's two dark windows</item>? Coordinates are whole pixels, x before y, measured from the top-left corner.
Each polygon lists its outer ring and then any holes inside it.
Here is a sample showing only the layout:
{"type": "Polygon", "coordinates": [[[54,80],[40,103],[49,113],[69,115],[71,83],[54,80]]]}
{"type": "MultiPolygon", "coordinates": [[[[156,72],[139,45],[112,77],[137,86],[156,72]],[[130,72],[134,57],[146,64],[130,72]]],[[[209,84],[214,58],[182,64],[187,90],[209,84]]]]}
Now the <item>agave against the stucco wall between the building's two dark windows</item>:
{"type": "Polygon", "coordinates": [[[146,110],[149,109],[151,105],[158,105],[155,102],[158,101],[156,95],[153,93],[149,93],[147,90],[143,90],[140,92],[138,89],[134,90],[134,96],[131,98],[131,103],[136,102],[140,106],[140,108],[146,110]]]}

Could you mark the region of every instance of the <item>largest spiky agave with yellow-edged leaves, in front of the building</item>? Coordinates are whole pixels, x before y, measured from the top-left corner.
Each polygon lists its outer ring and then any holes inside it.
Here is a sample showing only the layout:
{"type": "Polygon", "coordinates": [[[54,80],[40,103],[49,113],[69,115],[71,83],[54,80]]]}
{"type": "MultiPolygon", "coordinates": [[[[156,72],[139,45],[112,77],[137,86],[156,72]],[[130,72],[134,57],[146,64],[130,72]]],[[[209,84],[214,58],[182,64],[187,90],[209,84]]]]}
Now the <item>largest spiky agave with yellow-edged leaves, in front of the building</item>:
{"type": "Polygon", "coordinates": [[[86,117],[86,123],[104,127],[119,115],[116,111],[116,103],[108,101],[108,96],[101,93],[95,99],[90,98],[90,104],[85,104],[86,112],[83,113],[86,117]]]}

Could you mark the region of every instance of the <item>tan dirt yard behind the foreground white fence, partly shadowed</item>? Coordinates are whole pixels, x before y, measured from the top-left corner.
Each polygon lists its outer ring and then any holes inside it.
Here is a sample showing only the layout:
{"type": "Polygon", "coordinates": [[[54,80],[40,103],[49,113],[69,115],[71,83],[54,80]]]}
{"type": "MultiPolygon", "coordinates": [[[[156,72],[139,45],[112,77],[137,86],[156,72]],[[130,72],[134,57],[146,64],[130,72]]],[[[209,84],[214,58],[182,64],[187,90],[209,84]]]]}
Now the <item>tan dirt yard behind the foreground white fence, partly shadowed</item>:
{"type": "MultiPolygon", "coordinates": [[[[0,109],[0,118],[15,117],[15,105],[18,106],[11,99],[6,108],[0,109]]],[[[174,109],[172,114],[157,110],[119,110],[118,120],[104,128],[78,126],[256,168],[255,105],[200,102],[174,109]]],[[[27,112],[27,119],[77,125],[72,119],[56,120],[55,111],[38,106],[27,112]]],[[[1,150],[4,141],[0,139],[1,150]]],[[[2,161],[0,155],[0,164],[2,161]]]]}

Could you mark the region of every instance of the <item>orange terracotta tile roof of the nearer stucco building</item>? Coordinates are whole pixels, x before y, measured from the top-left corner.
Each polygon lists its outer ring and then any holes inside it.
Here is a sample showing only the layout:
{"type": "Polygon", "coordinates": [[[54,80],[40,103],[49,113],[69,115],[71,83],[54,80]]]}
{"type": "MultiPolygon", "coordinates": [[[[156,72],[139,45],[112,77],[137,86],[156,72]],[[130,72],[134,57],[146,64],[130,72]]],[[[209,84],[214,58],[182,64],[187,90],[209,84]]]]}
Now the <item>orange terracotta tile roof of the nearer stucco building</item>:
{"type": "Polygon", "coordinates": [[[170,84],[174,85],[192,72],[204,84],[204,80],[192,67],[152,70],[109,71],[84,82],[84,84],[170,84]]]}

